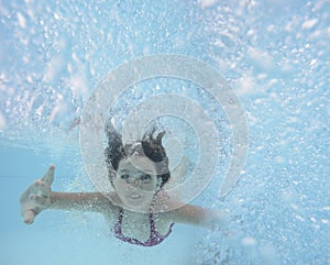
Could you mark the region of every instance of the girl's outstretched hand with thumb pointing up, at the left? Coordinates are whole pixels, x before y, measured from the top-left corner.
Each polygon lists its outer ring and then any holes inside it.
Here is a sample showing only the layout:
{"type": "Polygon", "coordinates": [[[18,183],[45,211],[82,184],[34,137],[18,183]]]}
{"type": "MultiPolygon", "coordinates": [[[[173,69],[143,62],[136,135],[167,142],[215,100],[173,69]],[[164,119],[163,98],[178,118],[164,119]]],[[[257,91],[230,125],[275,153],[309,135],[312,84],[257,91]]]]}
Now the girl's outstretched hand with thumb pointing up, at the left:
{"type": "Polygon", "coordinates": [[[54,180],[55,166],[50,166],[45,176],[35,180],[20,198],[21,213],[24,222],[33,223],[34,218],[51,205],[51,185],[54,180]]]}

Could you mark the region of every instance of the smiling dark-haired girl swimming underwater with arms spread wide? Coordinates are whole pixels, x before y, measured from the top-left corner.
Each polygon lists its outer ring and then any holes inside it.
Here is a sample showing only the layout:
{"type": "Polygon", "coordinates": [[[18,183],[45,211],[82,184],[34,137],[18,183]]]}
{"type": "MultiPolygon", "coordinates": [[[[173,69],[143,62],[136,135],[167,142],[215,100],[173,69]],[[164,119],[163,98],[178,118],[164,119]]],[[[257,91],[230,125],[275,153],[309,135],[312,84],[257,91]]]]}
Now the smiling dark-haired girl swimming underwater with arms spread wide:
{"type": "MultiPolygon", "coordinates": [[[[113,128],[108,128],[107,134],[106,162],[116,191],[107,197],[101,192],[52,191],[55,166],[51,166],[45,176],[35,180],[20,198],[25,223],[32,223],[35,216],[45,209],[100,212],[116,238],[142,246],[163,242],[174,223],[210,229],[224,224],[227,214],[219,210],[184,203],[169,211],[155,209],[155,201],[164,195],[161,190],[170,177],[168,158],[162,145],[164,132],[156,137],[153,136],[154,131],[146,133],[142,141],[125,146],[113,128]]],[[[164,203],[166,208],[175,202],[167,199],[164,203]]]]}

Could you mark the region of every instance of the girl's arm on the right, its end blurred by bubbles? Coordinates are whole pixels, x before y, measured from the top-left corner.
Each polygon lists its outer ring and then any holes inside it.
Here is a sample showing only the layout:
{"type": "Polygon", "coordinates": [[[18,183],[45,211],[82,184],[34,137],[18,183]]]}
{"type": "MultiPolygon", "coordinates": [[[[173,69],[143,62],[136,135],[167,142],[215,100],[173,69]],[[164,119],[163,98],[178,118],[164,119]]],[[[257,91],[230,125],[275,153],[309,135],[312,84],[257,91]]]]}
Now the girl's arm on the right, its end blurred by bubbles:
{"type": "Polygon", "coordinates": [[[198,206],[185,205],[172,211],[172,219],[177,223],[198,225],[207,229],[228,225],[229,213],[221,210],[205,209],[198,206]]]}

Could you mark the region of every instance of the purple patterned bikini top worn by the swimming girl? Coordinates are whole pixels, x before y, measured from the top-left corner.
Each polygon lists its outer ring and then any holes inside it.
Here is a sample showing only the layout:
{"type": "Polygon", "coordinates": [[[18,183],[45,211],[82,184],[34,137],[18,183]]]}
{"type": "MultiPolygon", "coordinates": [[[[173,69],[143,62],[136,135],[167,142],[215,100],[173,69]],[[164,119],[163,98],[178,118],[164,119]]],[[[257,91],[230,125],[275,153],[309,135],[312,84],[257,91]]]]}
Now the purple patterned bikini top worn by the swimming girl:
{"type": "Polygon", "coordinates": [[[132,239],[132,238],[129,238],[129,236],[125,236],[122,234],[122,229],[121,229],[122,219],[123,219],[123,210],[121,208],[119,211],[119,219],[113,228],[114,236],[123,242],[129,242],[131,244],[142,245],[142,246],[154,246],[154,245],[161,244],[170,234],[172,227],[174,225],[174,223],[170,224],[169,230],[165,235],[160,234],[156,231],[155,222],[153,219],[153,213],[151,212],[148,216],[150,238],[147,241],[141,242],[140,240],[132,239]]]}

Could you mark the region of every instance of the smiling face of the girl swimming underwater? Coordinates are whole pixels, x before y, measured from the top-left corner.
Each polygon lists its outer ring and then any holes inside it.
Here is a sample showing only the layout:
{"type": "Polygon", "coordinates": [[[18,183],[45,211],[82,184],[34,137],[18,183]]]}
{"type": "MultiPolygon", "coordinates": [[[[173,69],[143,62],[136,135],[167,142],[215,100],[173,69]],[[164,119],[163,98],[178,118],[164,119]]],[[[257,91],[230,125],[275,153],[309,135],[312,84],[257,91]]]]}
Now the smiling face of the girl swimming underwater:
{"type": "Polygon", "coordinates": [[[119,163],[113,186],[119,198],[128,208],[148,211],[158,187],[156,168],[146,157],[123,158],[119,163]]]}

